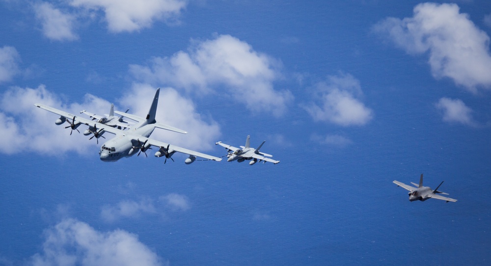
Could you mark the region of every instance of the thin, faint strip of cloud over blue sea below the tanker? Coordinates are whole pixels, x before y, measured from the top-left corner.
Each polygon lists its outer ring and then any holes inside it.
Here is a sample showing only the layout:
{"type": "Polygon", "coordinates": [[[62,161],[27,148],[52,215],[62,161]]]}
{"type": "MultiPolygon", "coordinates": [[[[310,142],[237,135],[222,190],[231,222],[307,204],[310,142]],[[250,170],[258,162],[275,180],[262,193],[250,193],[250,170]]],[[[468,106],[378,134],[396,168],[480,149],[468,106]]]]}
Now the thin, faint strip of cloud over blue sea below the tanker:
{"type": "Polygon", "coordinates": [[[143,215],[164,215],[168,211],[179,212],[190,209],[185,195],[170,193],[160,196],[157,200],[144,198],[140,201],[122,200],[115,205],[102,207],[101,217],[106,222],[114,222],[121,218],[138,218],[143,215]]]}

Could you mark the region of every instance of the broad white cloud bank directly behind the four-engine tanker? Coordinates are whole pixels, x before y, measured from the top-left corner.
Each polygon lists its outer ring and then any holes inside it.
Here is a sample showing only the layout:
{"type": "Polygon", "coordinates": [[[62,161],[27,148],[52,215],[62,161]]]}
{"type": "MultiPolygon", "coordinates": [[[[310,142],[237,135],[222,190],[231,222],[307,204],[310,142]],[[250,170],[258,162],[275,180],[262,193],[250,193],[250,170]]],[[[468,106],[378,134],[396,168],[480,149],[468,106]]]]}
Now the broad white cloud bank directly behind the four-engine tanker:
{"type": "MultiPolygon", "coordinates": [[[[136,115],[145,116],[155,95],[155,89],[149,86],[134,86],[133,90],[124,95],[121,100],[122,106],[131,108],[132,113],[136,115]]],[[[179,96],[175,90],[161,90],[160,99],[157,119],[186,129],[190,133],[182,135],[172,132],[173,134],[169,134],[167,138],[167,132],[157,129],[152,137],[196,150],[211,148],[211,143],[219,136],[216,122],[204,122],[194,110],[192,102],[179,96]]],[[[65,104],[43,85],[35,89],[11,88],[0,94],[0,134],[4,140],[0,152],[12,154],[29,151],[58,155],[75,151],[79,154],[97,154],[101,144],[97,145],[94,140],[87,140],[87,136],[76,131],[70,136],[70,129],[63,128],[68,123],[63,126],[55,125],[59,116],[36,108],[34,103],[43,103],[74,115],[79,115],[83,109],[96,114],[107,114],[110,108],[109,101],[90,94],[85,95],[82,103],[65,104]]],[[[79,127],[79,130],[81,129],[85,129],[84,125],[79,127]]],[[[109,133],[105,135],[108,139],[112,136],[109,133]]]]}

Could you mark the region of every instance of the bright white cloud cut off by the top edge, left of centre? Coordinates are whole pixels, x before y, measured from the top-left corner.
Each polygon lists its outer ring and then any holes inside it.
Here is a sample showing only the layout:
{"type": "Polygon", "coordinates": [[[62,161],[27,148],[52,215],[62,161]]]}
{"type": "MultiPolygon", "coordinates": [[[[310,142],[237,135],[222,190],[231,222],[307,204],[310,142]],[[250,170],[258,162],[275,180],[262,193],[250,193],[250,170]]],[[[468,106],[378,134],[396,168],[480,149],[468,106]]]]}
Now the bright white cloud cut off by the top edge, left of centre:
{"type": "Polygon", "coordinates": [[[133,32],[155,21],[176,19],[186,7],[184,0],[71,0],[74,7],[103,10],[109,30],[133,32]]]}

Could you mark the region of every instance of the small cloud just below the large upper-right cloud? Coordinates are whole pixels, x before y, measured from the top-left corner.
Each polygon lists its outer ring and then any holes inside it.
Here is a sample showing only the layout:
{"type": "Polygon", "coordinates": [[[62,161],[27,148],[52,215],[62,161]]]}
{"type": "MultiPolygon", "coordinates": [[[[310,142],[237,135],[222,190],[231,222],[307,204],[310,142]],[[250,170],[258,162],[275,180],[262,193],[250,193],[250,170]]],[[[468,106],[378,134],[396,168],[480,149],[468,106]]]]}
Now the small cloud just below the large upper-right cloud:
{"type": "Polygon", "coordinates": [[[472,109],[467,107],[460,99],[443,97],[435,106],[443,112],[443,121],[475,125],[471,116],[472,109]]]}

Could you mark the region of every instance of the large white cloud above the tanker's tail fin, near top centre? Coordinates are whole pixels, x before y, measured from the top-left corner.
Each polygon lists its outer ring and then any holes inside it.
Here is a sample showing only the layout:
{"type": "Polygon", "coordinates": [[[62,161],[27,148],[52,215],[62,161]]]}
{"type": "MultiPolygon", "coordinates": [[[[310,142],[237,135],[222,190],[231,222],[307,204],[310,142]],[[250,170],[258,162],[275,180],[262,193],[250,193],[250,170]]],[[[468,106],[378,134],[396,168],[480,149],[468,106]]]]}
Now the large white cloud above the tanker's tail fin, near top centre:
{"type": "Polygon", "coordinates": [[[285,113],[293,100],[290,91],[277,91],[279,63],[230,35],[195,42],[189,52],[156,57],[150,66],[131,65],[130,72],[146,83],[171,84],[187,93],[225,93],[252,112],[285,113]]]}

